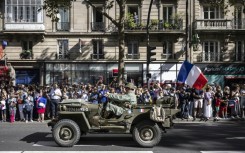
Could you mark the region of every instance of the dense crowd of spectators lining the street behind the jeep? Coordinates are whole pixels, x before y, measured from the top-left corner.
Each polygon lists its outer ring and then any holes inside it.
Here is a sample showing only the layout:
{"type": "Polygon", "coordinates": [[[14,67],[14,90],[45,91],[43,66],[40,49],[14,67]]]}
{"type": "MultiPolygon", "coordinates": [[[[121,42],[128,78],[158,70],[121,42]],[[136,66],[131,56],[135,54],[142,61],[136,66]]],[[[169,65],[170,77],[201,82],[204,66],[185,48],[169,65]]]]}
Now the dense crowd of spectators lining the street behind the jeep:
{"type": "MultiPolygon", "coordinates": [[[[94,104],[107,101],[105,94],[124,93],[124,88],[113,80],[109,85],[77,83],[73,85],[52,84],[46,86],[0,85],[0,119],[2,122],[44,122],[57,116],[57,105],[63,99],[84,99],[94,104]]],[[[180,109],[177,117],[207,121],[211,118],[244,118],[245,84],[234,84],[223,89],[219,85],[206,85],[197,90],[187,85],[154,83],[135,89],[138,104],[154,104],[163,96],[172,96],[175,108],[180,109]]]]}

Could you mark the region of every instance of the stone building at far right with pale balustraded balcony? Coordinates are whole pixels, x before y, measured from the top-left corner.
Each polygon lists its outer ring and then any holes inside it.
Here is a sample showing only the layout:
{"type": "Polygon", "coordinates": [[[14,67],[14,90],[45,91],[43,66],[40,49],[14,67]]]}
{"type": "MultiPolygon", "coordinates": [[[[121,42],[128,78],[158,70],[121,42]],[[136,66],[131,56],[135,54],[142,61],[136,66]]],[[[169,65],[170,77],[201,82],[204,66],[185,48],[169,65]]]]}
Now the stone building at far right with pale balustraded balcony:
{"type": "Polygon", "coordinates": [[[245,83],[245,8],[243,3],[207,0],[192,2],[193,35],[200,43],[192,46],[192,61],[210,83],[222,86],[245,83]]]}

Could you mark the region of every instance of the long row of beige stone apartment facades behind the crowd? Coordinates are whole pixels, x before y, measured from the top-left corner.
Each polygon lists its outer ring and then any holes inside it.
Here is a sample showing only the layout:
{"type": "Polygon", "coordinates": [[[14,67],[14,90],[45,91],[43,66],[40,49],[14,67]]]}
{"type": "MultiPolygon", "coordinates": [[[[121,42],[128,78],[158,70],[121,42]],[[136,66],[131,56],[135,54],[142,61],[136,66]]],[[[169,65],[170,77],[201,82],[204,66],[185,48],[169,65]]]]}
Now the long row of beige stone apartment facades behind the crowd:
{"type": "MultiPolygon", "coordinates": [[[[92,2],[103,10],[103,1],[92,2]]],[[[136,85],[146,82],[149,4],[150,0],[127,0],[125,7],[125,78],[136,85]]],[[[60,8],[58,22],[51,22],[42,5],[43,0],[1,1],[0,40],[8,42],[2,60],[15,68],[17,83],[94,84],[103,77],[108,84],[118,68],[117,28],[83,0],[74,0],[70,9],[60,8]]],[[[202,0],[189,1],[188,6],[188,59],[203,69],[210,82],[222,83],[234,76],[239,81],[245,71],[243,8],[230,6],[225,14],[202,0]],[[193,41],[196,38],[200,42],[193,41]]],[[[104,11],[117,18],[119,7],[115,3],[104,11]]],[[[186,0],[153,2],[149,34],[157,60],[150,64],[151,81],[176,81],[186,58],[185,15],[186,0]]]]}

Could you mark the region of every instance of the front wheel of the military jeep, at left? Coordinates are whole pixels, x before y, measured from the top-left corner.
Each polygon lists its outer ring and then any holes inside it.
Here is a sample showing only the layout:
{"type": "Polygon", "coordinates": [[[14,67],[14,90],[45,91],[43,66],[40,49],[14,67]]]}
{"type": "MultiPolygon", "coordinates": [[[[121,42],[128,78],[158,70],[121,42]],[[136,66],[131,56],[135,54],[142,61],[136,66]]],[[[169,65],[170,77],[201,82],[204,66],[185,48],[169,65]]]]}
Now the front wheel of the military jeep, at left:
{"type": "Polygon", "coordinates": [[[53,128],[53,138],[59,146],[72,147],[79,141],[80,137],[80,128],[72,120],[60,120],[53,128]]]}

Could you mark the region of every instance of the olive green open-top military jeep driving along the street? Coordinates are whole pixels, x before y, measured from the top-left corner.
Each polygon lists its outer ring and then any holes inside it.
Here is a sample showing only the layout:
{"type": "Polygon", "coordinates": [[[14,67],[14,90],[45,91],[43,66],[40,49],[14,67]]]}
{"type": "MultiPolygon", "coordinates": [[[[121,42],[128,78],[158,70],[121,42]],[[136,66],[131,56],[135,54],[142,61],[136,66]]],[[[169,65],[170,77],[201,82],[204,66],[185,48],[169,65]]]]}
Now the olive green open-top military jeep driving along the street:
{"type": "Polygon", "coordinates": [[[125,108],[120,117],[108,115],[105,104],[92,104],[82,99],[63,100],[58,105],[58,117],[48,123],[55,142],[72,147],[86,133],[132,134],[141,147],[157,145],[166,128],[173,126],[173,97],[159,99],[155,105],[138,104],[125,108]]]}

